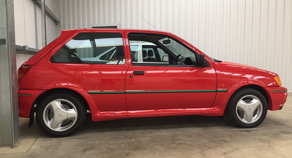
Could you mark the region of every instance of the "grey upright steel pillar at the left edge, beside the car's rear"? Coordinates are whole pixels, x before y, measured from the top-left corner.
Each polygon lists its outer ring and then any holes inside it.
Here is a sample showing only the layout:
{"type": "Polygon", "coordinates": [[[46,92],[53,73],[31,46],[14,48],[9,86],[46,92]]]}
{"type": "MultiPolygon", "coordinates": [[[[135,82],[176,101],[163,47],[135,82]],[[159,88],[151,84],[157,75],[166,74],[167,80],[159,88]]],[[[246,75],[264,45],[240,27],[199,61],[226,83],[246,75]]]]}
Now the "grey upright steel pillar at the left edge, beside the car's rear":
{"type": "Polygon", "coordinates": [[[0,146],[17,146],[19,140],[18,94],[13,0],[0,0],[0,146]]]}

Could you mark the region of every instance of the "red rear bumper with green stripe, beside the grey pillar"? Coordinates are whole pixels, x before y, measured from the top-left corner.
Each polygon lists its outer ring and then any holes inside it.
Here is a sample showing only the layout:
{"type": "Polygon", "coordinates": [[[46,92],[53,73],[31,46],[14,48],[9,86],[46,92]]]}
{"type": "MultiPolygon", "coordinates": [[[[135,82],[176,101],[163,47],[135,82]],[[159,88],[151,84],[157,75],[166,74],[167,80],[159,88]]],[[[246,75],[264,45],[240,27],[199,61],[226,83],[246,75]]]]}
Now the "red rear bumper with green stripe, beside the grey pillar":
{"type": "Polygon", "coordinates": [[[30,117],[30,109],[36,98],[45,90],[18,90],[18,114],[21,118],[30,117]]]}

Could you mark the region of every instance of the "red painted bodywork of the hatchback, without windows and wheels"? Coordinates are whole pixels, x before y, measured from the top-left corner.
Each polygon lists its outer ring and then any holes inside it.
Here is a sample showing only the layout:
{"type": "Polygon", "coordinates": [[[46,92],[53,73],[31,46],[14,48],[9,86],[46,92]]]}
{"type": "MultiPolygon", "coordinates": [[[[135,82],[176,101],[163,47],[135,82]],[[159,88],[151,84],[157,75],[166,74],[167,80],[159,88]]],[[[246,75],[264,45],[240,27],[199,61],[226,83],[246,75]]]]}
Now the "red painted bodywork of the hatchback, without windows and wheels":
{"type": "Polygon", "coordinates": [[[224,114],[231,95],[242,86],[262,87],[268,97],[268,109],[278,110],[287,99],[286,88],[277,85],[277,74],[230,62],[214,62],[205,55],[209,68],[132,66],[127,33],[160,33],[180,40],[187,47],[203,54],[181,38],[162,31],[77,29],[62,31],[60,37],[34,55],[24,65],[34,65],[18,84],[19,116],[29,117],[30,109],[40,94],[55,88],[74,90],[86,100],[93,121],[133,117],[224,114]],[[50,63],[50,57],[81,32],[119,32],[123,35],[124,65],[50,63]],[[128,58],[127,58],[128,57],[128,58]],[[144,71],[134,75],[133,71],[144,71]],[[133,75],[133,78],[129,76],[133,75]],[[222,87],[222,85],[224,85],[222,87]],[[88,91],[164,91],[164,90],[228,90],[228,92],[192,93],[114,93],[88,94],[88,91]]]}

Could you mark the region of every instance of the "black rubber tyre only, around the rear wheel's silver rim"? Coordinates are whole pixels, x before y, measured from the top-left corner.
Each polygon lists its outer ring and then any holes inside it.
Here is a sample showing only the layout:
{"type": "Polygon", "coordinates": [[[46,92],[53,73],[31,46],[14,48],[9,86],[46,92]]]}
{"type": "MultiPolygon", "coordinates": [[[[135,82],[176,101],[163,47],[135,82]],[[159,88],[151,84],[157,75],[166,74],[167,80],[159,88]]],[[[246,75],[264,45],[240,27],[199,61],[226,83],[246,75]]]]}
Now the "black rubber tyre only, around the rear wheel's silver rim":
{"type": "Polygon", "coordinates": [[[79,97],[75,96],[73,93],[68,93],[68,92],[51,93],[47,95],[46,97],[44,97],[36,106],[37,125],[40,127],[40,129],[44,133],[53,137],[67,137],[69,135],[72,135],[76,131],[78,131],[78,129],[82,126],[85,120],[85,114],[86,114],[86,110],[85,110],[85,106],[82,100],[79,97]],[[45,107],[51,101],[56,100],[56,99],[69,100],[71,103],[74,104],[78,112],[77,120],[75,124],[66,131],[54,131],[50,129],[43,120],[43,111],[45,110],[45,107]]]}

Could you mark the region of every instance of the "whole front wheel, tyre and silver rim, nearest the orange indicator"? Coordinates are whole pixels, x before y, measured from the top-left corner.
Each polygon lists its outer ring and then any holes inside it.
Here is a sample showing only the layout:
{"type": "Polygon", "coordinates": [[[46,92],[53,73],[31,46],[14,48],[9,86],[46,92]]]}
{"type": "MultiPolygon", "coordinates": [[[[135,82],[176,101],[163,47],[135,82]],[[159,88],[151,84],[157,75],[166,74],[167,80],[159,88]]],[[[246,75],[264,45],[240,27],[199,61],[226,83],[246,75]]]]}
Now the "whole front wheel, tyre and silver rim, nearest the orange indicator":
{"type": "Polygon", "coordinates": [[[242,88],[231,96],[226,110],[226,116],[233,125],[254,128],[266,118],[268,104],[258,90],[242,88]]]}

